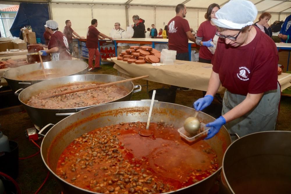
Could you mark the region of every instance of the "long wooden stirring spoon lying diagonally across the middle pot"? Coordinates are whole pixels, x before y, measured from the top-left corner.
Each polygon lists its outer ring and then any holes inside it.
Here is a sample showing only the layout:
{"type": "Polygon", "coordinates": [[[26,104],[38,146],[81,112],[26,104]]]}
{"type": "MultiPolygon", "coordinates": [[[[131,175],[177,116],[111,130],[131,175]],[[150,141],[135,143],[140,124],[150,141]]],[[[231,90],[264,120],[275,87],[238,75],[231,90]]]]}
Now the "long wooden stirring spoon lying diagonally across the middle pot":
{"type": "Polygon", "coordinates": [[[88,87],[88,88],[80,88],[80,89],[77,89],[77,90],[61,92],[61,93],[58,93],[58,94],[45,95],[45,96],[39,97],[38,99],[43,100],[43,99],[48,99],[48,98],[52,98],[52,97],[55,97],[55,96],[61,96],[61,95],[70,94],[70,93],[74,93],[74,92],[80,92],[80,91],[84,91],[84,90],[91,90],[91,89],[95,89],[95,88],[99,88],[99,87],[103,87],[103,86],[112,86],[114,84],[123,83],[123,82],[127,82],[127,81],[133,81],[133,80],[142,79],[142,78],[146,78],[146,77],[149,77],[149,75],[144,75],[144,76],[140,76],[140,77],[134,77],[134,78],[131,78],[131,79],[125,79],[125,80],[115,81],[115,82],[111,82],[111,83],[105,83],[105,84],[101,84],[101,85],[98,85],[98,86],[92,86],[92,87],[88,87]]]}

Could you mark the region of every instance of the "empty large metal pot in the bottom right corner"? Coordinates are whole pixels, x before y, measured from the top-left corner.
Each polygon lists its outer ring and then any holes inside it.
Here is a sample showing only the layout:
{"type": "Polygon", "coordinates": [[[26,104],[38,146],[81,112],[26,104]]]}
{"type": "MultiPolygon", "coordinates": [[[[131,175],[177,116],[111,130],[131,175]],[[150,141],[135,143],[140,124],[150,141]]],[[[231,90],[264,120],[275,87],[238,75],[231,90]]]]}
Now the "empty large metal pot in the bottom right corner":
{"type": "Polygon", "coordinates": [[[220,193],[291,193],[291,131],[265,131],[226,150],[220,193]]]}

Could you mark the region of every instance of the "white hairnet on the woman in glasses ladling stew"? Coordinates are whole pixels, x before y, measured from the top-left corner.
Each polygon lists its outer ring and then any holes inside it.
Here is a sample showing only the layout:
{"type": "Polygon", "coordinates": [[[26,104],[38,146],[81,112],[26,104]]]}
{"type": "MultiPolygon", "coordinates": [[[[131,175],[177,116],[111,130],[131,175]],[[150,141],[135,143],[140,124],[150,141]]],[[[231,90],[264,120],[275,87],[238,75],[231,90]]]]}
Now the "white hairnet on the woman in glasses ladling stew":
{"type": "Polygon", "coordinates": [[[251,1],[231,0],[215,13],[211,21],[221,28],[242,29],[253,24],[258,10],[251,1]]]}

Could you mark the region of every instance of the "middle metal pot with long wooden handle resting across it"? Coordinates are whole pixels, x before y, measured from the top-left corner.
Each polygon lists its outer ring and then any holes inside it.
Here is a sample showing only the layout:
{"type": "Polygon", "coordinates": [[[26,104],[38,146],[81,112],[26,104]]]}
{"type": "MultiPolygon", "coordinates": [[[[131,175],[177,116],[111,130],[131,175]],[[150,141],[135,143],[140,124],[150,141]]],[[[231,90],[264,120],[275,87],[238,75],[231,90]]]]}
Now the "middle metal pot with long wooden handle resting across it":
{"type": "MultiPolygon", "coordinates": [[[[50,79],[47,81],[42,81],[40,83],[36,83],[28,88],[22,90],[19,93],[19,101],[24,106],[27,111],[31,121],[36,126],[37,129],[41,129],[48,123],[56,124],[63,118],[72,115],[78,111],[84,110],[85,108],[89,108],[91,106],[86,107],[78,107],[78,108],[66,108],[66,109],[49,109],[49,108],[36,108],[33,106],[29,106],[26,102],[33,96],[37,95],[40,92],[50,90],[53,88],[57,88],[60,86],[64,86],[67,84],[73,84],[76,82],[101,82],[101,83],[110,83],[114,81],[125,80],[123,77],[114,76],[114,75],[106,75],[106,74],[85,74],[85,75],[72,75],[66,77],[60,77],[56,79],[50,79]]],[[[130,81],[125,83],[119,83],[117,86],[121,86],[125,88],[128,93],[124,97],[121,97],[117,100],[111,102],[119,102],[119,101],[127,101],[131,99],[132,93],[141,91],[141,86],[134,86],[134,84],[130,81]],[[134,90],[134,88],[139,87],[139,89],[134,90]]],[[[18,91],[15,92],[16,95],[18,91]]],[[[97,105],[97,104],[96,104],[97,105]]],[[[94,105],[95,106],[95,105],[94,105]]]]}

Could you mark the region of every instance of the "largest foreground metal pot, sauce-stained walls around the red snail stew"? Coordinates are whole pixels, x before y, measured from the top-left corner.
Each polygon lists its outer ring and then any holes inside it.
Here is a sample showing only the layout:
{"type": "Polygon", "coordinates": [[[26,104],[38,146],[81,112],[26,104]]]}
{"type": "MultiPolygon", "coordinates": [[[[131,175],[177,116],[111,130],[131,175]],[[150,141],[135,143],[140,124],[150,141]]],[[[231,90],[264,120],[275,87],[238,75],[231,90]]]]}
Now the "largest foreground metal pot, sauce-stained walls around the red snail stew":
{"type": "MultiPolygon", "coordinates": [[[[63,193],[94,193],[92,191],[76,187],[56,175],[56,165],[63,150],[75,138],[98,127],[118,124],[119,122],[146,122],[148,119],[149,107],[149,100],[103,104],[80,111],[54,125],[47,132],[42,141],[41,156],[43,162],[61,186],[63,193]]],[[[186,106],[166,102],[155,102],[152,110],[151,122],[159,122],[162,119],[165,122],[168,121],[173,123],[175,127],[181,127],[183,126],[184,120],[190,115],[194,115],[194,112],[195,110],[193,108],[186,106]]],[[[203,112],[199,112],[197,118],[205,123],[215,120],[213,117],[203,112]]],[[[44,127],[40,133],[45,131],[46,127],[44,127]]],[[[165,138],[167,138],[166,134],[165,138]]],[[[219,169],[211,176],[196,184],[168,193],[206,194],[210,191],[210,188],[213,186],[214,181],[220,173],[223,154],[230,145],[231,140],[226,128],[222,127],[216,136],[206,141],[217,154],[219,169]]]]}

